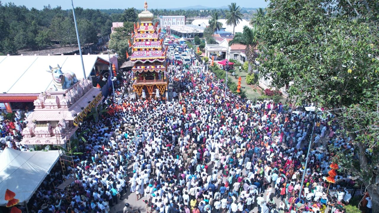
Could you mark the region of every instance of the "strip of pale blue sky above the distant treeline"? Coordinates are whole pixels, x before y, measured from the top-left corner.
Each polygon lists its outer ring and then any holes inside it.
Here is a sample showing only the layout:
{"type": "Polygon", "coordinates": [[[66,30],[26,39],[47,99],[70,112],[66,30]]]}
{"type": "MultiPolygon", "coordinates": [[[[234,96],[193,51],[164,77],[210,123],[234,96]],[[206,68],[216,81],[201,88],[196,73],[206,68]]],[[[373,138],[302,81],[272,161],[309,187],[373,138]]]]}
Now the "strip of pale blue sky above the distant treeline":
{"type": "MultiPolygon", "coordinates": [[[[15,5],[25,5],[27,8],[43,9],[44,5],[51,5],[53,8],[61,6],[62,9],[70,9],[71,0],[0,0],[2,4],[13,2],[15,5]]],[[[104,0],[74,0],[75,7],[91,8],[91,9],[125,9],[134,7],[143,9],[144,0],[121,0],[121,1],[104,1],[104,0]]],[[[221,7],[227,6],[231,2],[245,8],[259,8],[266,7],[268,2],[265,0],[191,0],[191,1],[172,1],[172,0],[147,0],[150,9],[169,9],[169,8],[182,8],[187,6],[202,5],[207,7],[221,7]],[[175,2],[175,3],[172,3],[175,2]]]]}

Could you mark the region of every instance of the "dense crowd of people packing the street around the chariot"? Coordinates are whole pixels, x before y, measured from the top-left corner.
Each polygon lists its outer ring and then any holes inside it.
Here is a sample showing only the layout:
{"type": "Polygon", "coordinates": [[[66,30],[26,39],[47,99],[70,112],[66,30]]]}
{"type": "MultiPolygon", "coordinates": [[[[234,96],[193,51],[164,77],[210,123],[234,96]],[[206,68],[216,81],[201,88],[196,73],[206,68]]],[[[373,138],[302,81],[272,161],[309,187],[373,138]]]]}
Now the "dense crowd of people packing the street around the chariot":
{"type": "Polygon", "coordinates": [[[344,189],[354,180],[337,174],[330,186],[335,196],[326,193],[334,155],[328,146],[354,148],[330,115],[292,113],[283,103],[252,103],[230,91],[224,97],[224,84],[205,65],[173,66],[171,75],[179,85],[171,102],[135,100],[133,75],[124,72],[116,100],[106,101],[108,112],[78,130],[84,154],[75,156],[69,174],[52,170],[30,212],[108,213],[128,191],[144,200],[147,213],[342,211],[351,198],[344,189]],[[63,176],[75,184],[56,191],[63,176]]]}

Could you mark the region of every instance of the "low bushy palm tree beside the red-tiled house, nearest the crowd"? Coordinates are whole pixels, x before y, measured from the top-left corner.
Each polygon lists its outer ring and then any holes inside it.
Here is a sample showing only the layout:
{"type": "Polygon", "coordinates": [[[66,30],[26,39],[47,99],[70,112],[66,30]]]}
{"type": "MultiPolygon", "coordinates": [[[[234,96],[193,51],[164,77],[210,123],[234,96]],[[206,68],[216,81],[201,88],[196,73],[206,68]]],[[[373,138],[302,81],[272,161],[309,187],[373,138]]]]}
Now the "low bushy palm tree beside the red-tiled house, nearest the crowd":
{"type": "Polygon", "coordinates": [[[247,26],[243,27],[242,33],[236,33],[234,38],[229,41],[232,44],[242,44],[246,46],[245,53],[249,61],[249,73],[252,72],[252,64],[255,61],[255,49],[257,49],[257,30],[247,26]]]}

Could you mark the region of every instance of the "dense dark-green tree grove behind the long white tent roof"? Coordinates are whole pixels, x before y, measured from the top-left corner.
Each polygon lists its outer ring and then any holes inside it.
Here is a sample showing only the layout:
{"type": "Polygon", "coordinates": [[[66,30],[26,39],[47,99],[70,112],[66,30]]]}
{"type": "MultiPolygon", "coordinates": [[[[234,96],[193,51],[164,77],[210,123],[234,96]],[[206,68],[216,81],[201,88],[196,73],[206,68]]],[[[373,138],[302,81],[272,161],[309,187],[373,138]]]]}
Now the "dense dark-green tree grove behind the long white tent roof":
{"type": "MultiPolygon", "coordinates": [[[[109,34],[112,22],[121,17],[80,7],[75,8],[75,15],[83,44],[97,42],[97,34],[109,34]]],[[[72,10],[50,5],[42,10],[28,9],[0,2],[0,54],[16,54],[23,48],[35,49],[53,43],[77,44],[72,10]]]]}

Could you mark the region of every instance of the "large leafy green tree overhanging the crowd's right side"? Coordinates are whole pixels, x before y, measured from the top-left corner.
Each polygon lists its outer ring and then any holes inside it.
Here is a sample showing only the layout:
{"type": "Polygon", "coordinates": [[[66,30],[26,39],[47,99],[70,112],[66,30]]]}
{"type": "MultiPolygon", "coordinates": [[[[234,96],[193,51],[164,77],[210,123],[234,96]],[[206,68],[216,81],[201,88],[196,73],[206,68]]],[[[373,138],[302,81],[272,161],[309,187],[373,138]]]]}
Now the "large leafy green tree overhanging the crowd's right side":
{"type": "MultiPolygon", "coordinates": [[[[379,206],[379,35],[377,1],[270,1],[259,25],[260,75],[318,103],[346,130],[354,151],[331,150],[341,170],[379,206]]],[[[373,208],[378,212],[379,208],[373,208]]]]}

